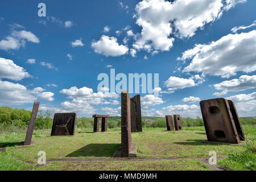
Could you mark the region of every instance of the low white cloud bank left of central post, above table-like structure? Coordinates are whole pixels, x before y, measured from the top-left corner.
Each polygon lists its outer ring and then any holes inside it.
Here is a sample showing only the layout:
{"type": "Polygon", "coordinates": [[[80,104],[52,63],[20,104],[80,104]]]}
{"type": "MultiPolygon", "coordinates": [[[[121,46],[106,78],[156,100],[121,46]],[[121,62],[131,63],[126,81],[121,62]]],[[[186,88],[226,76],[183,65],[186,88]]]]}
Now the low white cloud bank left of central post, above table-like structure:
{"type": "Polygon", "coordinates": [[[118,105],[117,98],[119,97],[116,93],[109,93],[108,89],[103,89],[101,92],[93,92],[93,89],[77,88],[73,86],[69,89],[63,89],[60,93],[66,94],[71,101],[64,101],[61,103],[61,107],[64,110],[76,111],[80,114],[93,114],[96,112],[94,105],[118,105]]]}

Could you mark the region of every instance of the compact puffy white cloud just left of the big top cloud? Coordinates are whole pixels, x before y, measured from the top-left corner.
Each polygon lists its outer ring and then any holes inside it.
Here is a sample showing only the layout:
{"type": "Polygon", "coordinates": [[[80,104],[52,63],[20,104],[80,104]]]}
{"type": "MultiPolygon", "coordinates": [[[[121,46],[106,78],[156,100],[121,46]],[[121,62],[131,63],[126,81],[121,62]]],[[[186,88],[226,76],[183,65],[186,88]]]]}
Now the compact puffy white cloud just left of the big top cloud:
{"type": "Polygon", "coordinates": [[[117,43],[117,38],[102,35],[101,39],[92,43],[94,52],[100,53],[106,57],[125,55],[129,48],[117,43]]]}

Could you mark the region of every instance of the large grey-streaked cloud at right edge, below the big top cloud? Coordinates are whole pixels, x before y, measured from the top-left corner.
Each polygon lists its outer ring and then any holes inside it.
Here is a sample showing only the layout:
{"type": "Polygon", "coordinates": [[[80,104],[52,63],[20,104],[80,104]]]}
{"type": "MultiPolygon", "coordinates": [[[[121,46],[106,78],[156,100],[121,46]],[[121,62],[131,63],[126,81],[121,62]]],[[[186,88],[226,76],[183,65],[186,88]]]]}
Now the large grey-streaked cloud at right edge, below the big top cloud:
{"type": "Polygon", "coordinates": [[[185,51],[180,59],[192,59],[183,72],[203,72],[205,75],[230,77],[236,72],[256,70],[256,30],[228,34],[216,42],[185,51]],[[189,52],[189,53],[188,53],[189,52]]]}

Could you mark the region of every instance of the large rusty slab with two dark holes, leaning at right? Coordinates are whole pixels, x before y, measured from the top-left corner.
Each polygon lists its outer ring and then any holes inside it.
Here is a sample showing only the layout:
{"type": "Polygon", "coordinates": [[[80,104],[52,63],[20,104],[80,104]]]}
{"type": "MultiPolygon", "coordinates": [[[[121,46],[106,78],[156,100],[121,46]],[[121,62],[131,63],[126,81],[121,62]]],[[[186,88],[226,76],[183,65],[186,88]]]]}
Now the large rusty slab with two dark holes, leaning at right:
{"type": "Polygon", "coordinates": [[[204,100],[200,107],[209,142],[240,143],[228,100],[204,100]]]}

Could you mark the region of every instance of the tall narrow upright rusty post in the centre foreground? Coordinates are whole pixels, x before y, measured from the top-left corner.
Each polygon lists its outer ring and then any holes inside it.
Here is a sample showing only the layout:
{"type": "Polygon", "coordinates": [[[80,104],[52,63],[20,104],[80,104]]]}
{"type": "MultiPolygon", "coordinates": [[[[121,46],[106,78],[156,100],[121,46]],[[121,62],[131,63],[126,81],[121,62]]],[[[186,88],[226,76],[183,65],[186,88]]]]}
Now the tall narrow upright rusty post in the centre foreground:
{"type": "Polygon", "coordinates": [[[131,150],[130,97],[127,90],[121,93],[121,157],[128,157],[131,150]]]}

